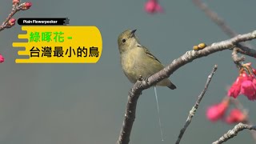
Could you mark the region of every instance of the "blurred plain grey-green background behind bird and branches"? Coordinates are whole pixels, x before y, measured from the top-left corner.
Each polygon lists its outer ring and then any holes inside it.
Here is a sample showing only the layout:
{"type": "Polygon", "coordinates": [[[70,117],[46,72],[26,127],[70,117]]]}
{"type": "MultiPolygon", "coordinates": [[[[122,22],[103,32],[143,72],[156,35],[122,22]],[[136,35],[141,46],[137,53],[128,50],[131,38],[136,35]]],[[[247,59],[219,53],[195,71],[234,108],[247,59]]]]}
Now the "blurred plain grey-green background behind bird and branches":
{"type": "MultiPolygon", "coordinates": [[[[97,26],[102,33],[102,58],[97,64],[15,64],[21,26],[1,31],[0,53],[0,143],[2,144],[110,144],[121,130],[128,91],[132,84],[122,73],[118,34],[137,29],[142,45],[165,65],[200,42],[211,44],[229,38],[191,1],[164,1],[165,14],[146,14],[146,0],[32,0],[30,10],[14,18],[64,17],[70,25],[97,26]]],[[[204,1],[239,34],[255,29],[256,1],[204,1]]],[[[11,10],[10,0],[1,0],[0,20],[11,10]]],[[[256,46],[256,42],[251,42],[256,46]]],[[[246,57],[246,62],[254,58],[246,57]]],[[[181,143],[211,143],[233,128],[224,122],[206,120],[206,108],[220,102],[238,75],[225,50],[182,66],[171,75],[177,90],[158,87],[165,141],[161,141],[154,89],[143,91],[130,143],[174,143],[189,110],[201,93],[214,64],[218,70],[181,143]]],[[[256,123],[255,103],[241,96],[256,123]]],[[[253,143],[244,130],[226,143],[253,143]]]]}

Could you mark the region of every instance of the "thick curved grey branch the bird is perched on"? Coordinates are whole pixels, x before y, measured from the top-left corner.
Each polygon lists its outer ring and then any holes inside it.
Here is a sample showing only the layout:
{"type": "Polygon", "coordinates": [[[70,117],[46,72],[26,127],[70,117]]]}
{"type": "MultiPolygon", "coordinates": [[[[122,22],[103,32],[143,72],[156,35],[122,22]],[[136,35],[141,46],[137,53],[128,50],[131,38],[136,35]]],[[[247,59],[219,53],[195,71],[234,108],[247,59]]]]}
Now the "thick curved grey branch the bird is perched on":
{"type": "MultiPolygon", "coordinates": [[[[118,144],[127,144],[130,142],[130,132],[135,119],[136,105],[139,98],[139,95],[142,94],[142,90],[154,86],[158,82],[161,82],[163,79],[170,77],[170,74],[173,74],[175,70],[186,65],[189,62],[192,62],[194,59],[206,57],[209,54],[213,54],[218,51],[228,50],[234,48],[239,42],[246,42],[256,38],[256,30],[248,34],[241,34],[234,38],[230,38],[226,41],[216,42],[210,46],[206,46],[202,50],[190,50],[186,54],[183,54],[180,58],[174,59],[169,66],[166,66],[163,70],[160,70],[158,73],[150,76],[147,81],[137,81],[133,88],[129,92],[128,102],[126,106],[126,114],[124,121],[122,123],[122,130],[118,138],[118,144]]],[[[249,52],[247,55],[256,55],[256,51],[248,48],[249,52]]]]}

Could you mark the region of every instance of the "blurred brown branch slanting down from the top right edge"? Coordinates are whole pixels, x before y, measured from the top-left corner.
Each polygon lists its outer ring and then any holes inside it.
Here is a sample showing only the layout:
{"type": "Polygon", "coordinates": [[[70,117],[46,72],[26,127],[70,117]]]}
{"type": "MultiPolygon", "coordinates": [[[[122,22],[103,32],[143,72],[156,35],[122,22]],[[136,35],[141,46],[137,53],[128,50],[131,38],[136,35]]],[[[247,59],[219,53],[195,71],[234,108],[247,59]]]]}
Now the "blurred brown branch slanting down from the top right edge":
{"type": "MultiPolygon", "coordinates": [[[[224,22],[224,20],[218,16],[218,14],[216,14],[213,10],[210,10],[210,8],[204,2],[202,2],[201,0],[192,0],[192,2],[194,2],[194,5],[198,6],[198,8],[201,9],[208,18],[210,18],[214,23],[216,23],[217,26],[219,26],[222,29],[222,31],[224,31],[224,33],[230,36],[230,38],[233,38],[238,35],[237,32],[232,30],[230,26],[228,26],[226,22],[224,22]]],[[[250,48],[254,47],[251,46],[249,43],[245,43],[245,45],[250,48]]],[[[240,45],[239,47],[242,47],[242,45],[240,45]]]]}

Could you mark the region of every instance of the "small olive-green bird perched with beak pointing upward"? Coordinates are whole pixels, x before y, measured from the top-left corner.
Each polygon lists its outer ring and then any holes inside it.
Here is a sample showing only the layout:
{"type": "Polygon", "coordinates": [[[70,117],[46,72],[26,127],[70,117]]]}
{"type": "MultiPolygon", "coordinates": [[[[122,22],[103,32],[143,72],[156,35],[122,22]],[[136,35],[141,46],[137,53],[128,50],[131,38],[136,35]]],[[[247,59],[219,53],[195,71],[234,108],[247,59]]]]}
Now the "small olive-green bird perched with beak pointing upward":
{"type": "MultiPolygon", "coordinates": [[[[162,70],[164,66],[155,58],[145,46],[142,46],[135,35],[136,30],[126,30],[118,36],[118,49],[122,63],[122,70],[130,82],[137,82],[138,78],[148,78],[162,70]]],[[[163,79],[158,86],[167,86],[171,90],[176,86],[170,79],[163,79]]]]}

